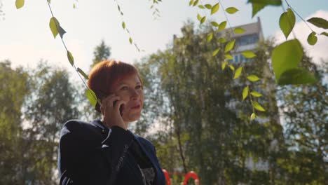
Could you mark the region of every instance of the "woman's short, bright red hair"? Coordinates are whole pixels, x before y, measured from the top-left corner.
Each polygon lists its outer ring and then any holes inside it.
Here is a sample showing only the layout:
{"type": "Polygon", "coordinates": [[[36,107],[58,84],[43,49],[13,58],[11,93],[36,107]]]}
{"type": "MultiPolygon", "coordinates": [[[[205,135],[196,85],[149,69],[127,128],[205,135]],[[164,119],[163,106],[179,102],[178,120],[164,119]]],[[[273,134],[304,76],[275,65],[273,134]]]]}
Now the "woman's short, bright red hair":
{"type": "MultiPolygon", "coordinates": [[[[91,69],[88,88],[95,92],[98,99],[102,100],[113,90],[115,83],[132,74],[137,74],[143,87],[139,72],[132,64],[117,60],[104,60],[95,64],[91,69]]],[[[100,112],[100,104],[96,104],[95,109],[100,112]]]]}

